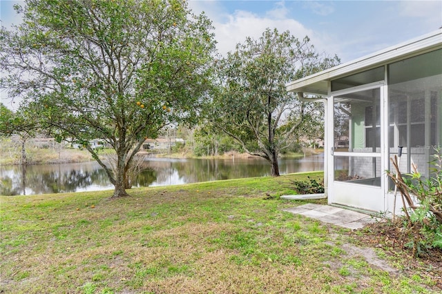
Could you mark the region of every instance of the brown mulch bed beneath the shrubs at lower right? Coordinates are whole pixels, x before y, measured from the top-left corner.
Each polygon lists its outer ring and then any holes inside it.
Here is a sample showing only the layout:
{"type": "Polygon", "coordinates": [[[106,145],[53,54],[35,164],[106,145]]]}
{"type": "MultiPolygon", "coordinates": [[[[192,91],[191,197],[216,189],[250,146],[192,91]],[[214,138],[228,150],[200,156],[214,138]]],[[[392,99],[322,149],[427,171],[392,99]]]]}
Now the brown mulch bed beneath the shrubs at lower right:
{"type": "Polygon", "coordinates": [[[436,282],[435,286],[442,289],[442,250],[423,249],[419,257],[414,257],[415,250],[405,245],[410,239],[407,238],[400,219],[397,219],[396,223],[390,220],[367,224],[365,228],[350,234],[362,245],[383,248],[387,255],[401,259],[405,264],[405,274],[417,270],[430,277],[436,282]]]}

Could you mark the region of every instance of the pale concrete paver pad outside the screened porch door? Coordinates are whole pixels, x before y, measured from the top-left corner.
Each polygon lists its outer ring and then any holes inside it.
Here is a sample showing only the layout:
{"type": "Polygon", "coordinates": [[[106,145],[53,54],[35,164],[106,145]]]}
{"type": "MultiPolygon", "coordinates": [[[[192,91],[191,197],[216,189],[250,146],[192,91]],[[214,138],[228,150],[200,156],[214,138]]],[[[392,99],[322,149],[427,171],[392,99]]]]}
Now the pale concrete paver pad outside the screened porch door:
{"type": "Polygon", "coordinates": [[[363,228],[366,224],[376,222],[376,218],[370,215],[329,205],[304,204],[294,208],[285,208],[283,210],[289,213],[319,219],[321,222],[328,224],[351,228],[352,230],[363,228]]]}

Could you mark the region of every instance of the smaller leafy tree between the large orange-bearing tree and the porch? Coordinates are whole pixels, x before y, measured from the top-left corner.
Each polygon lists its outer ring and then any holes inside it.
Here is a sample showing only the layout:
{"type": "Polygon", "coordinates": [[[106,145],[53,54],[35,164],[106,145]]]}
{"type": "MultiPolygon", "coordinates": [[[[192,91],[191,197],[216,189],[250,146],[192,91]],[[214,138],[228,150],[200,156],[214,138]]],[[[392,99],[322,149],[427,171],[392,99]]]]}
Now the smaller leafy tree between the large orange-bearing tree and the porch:
{"type": "Polygon", "coordinates": [[[207,115],[211,126],[236,139],[247,153],[271,164],[278,176],[278,154],[288,141],[311,134],[322,120],[322,105],[300,101],[285,85],[338,64],[314,50],[309,38],[267,29],[248,37],[218,62],[220,91],[207,115]]]}

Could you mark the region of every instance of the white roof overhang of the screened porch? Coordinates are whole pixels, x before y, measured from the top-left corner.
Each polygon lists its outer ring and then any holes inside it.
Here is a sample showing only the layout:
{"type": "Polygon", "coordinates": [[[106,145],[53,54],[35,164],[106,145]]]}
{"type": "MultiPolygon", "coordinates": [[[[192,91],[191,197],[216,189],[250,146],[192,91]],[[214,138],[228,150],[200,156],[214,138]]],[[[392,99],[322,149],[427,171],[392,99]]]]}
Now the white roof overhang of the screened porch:
{"type": "Polygon", "coordinates": [[[323,70],[286,85],[289,92],[305,92],[314,95],[328,95],[329,81],[353,75],[357,72],[406,59],[415,55],[442,48],[442,29],[430,32],[416,39],[400,43],[371,55],[340,64],[334,68],[323,70]]]}

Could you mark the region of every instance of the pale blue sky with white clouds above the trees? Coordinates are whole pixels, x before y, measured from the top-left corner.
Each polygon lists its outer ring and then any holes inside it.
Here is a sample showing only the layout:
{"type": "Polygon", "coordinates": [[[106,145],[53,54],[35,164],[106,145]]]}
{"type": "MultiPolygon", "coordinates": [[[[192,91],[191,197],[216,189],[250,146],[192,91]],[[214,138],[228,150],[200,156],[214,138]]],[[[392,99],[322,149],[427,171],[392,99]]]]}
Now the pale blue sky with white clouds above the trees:
{"type": "MultiPolygon", "coordinates": [[[[266,28],[308,36],[318,52],[347,62],[442,27],[442,1],[271,1],[188,0],[213,21],[218,52],[225,55],[246,37],[266,28]]],[[[0,0],[2,26],[19,23],[12,6],[0,0]]],[[[1,93],[1,100],[6,97],[1,93]]],[[[4,102],[3,102],[4,103],[4,102]]]]}

